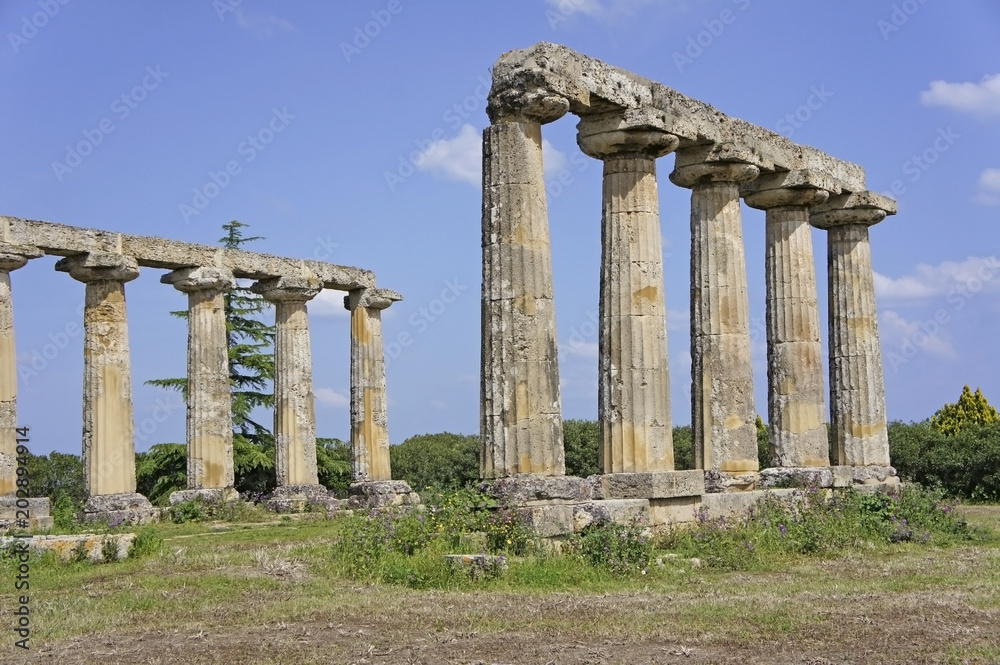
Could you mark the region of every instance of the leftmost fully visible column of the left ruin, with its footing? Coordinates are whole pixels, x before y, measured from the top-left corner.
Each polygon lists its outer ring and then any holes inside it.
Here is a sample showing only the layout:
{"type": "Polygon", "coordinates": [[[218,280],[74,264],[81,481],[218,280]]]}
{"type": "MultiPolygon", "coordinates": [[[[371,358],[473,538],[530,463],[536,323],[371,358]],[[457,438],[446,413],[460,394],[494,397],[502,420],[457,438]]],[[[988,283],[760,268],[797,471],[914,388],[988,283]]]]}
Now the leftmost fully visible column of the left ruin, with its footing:
{"type": "Polygon", "coordinates": [[[56,263],[87,285],[83,312],[84,512],[90,519],[145,521],[149,501],[135,492],[132,373],[125,283],[139,276],[134,258],[92,252],[56,263]]]}

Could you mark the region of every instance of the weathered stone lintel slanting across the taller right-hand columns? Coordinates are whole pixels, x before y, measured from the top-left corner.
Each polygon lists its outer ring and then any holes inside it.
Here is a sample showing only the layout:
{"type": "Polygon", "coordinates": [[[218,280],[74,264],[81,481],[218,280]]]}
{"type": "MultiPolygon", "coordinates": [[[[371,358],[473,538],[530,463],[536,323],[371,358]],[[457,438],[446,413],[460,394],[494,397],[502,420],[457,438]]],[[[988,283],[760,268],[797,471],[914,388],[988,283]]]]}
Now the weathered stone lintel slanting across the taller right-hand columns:
{"type": "Polygon", "coordinates": [[[730,143],[748,161],[768,171],[811,169],[835,179],[847,191],[865,189],[857,164],[790,141],[771,130],[721,113],[665,85],[613,67],[559,44],[540,42],[505,53],[493,66],[490,97],[542,89],[568,100],[580,116],[616,109],[651,108],[663,113],[666,130],[681,146],[730,143]]]}

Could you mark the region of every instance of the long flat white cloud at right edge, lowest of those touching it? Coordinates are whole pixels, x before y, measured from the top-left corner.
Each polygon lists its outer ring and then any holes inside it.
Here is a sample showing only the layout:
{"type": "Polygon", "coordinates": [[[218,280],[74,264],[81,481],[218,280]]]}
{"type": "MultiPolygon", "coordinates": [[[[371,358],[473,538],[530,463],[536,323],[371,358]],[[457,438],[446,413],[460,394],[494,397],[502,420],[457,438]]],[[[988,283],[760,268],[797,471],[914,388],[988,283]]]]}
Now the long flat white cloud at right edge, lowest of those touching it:
{"type": "Polygon", "coordinates": [[[1000,290],[1000,261],[996,256],[970,256],[964,261],[944,261],[936,266],[918,264],[909,275],[892,278],[875,273],[875,294],[894,301],[923,300],[953,291],[1000,290]],[[977,286],[974,286],[977,285],[977,286]]]}

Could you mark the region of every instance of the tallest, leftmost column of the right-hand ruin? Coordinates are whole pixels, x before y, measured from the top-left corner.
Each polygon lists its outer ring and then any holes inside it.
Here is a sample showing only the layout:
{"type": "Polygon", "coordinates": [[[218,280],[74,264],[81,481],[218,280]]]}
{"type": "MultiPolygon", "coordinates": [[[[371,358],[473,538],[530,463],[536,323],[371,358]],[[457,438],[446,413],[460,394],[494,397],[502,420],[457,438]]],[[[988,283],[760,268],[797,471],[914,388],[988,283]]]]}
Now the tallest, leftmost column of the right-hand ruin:
{"type": "Polygon", "coordinates": [[[542,129],[569,102],[494,90],[483,132],[480,472],[565,473],[542,129]]]}

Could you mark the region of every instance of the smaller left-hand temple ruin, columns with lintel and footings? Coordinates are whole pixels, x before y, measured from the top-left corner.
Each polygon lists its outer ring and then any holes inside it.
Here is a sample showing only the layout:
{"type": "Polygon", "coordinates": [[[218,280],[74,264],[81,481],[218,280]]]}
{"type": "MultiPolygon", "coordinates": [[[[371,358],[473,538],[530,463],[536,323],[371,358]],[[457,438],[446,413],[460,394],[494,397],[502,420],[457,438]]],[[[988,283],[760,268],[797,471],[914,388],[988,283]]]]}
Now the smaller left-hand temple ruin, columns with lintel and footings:
{"type": "Polygon", "coordinates": [[[279,498],[329,496],[316,469],[316,421],[307,303],[323,289],[347,291],[351,312],[351,491],[366,500],[408,495],[391,481],[381,311],[402,299],[377,288],[369,270],[239,249],[0,217],[0,499],[15,493],[17,375],[10,272],[43,255],[86,284],[83,310],[83,465],[93,519],[144,521],[136,493],[131,360],[125,285],[140,269],[188,296],[187,490],[226,499],[233,490],[233,430],[224,294],[236,278],[275,306],[274,434],[279,498]]]}

